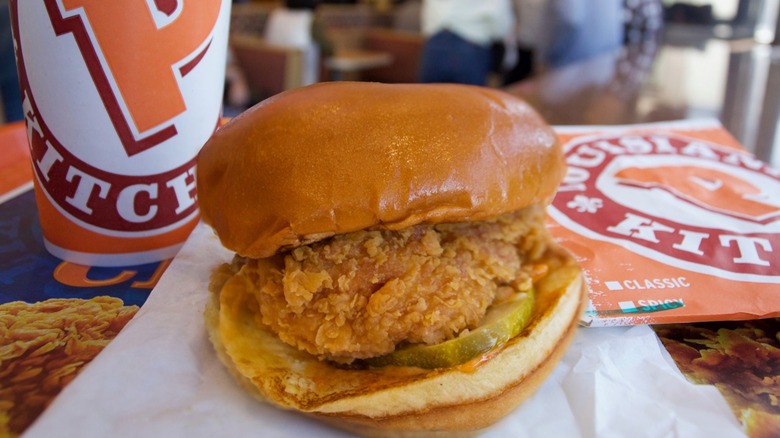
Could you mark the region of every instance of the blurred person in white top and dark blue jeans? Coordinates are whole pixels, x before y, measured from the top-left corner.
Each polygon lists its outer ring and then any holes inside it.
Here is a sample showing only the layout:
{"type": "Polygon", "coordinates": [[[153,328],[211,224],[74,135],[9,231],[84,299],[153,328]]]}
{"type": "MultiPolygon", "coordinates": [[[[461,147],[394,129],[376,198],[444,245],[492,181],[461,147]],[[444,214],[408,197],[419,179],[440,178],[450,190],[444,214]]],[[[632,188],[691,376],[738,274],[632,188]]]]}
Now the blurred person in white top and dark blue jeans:
{"type": "Polygon", "coordinates": [[[423,0],[421,22],[420,82],[486,85],[514,15],[510,0],[423,0]]]}

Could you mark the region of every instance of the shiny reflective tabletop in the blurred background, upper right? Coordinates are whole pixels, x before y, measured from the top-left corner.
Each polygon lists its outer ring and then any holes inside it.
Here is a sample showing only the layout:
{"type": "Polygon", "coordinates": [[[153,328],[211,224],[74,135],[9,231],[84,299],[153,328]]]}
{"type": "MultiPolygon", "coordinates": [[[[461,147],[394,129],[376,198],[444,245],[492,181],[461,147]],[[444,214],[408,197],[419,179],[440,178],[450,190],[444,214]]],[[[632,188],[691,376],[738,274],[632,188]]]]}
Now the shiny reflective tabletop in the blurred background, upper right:
{"type": "Polygon", "coordinates": [[[507,87],[553,125],[717,118],[780,167],[780,47],[752,41],[631,46],[507,87]]]}

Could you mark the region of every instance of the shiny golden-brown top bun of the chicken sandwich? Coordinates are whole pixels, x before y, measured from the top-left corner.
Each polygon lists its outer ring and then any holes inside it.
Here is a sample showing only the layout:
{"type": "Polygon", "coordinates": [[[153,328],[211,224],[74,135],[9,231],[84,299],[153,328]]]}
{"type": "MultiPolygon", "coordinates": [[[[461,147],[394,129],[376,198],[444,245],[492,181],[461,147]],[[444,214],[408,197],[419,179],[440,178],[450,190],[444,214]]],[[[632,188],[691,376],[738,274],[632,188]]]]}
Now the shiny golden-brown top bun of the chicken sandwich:
{"type": "Polygon", "coordinates": [[[198,200],[245,257],[366,228],[484,220],[552,198],[552,129],[507,93],[450,84],[329,82],[231,120],[198,158],[198,200]]]}

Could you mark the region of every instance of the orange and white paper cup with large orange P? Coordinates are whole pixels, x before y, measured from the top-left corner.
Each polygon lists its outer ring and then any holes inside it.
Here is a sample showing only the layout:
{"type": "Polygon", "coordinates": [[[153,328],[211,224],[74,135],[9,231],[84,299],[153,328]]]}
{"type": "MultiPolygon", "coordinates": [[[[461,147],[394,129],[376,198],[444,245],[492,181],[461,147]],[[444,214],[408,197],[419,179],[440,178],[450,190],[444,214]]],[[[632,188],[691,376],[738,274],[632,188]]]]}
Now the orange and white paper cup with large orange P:
{"type": "Polygon", "coordinates": [[[46,248],[92,266],[176,254],[222,107],[229,0],[11,0],[46,248]]]}

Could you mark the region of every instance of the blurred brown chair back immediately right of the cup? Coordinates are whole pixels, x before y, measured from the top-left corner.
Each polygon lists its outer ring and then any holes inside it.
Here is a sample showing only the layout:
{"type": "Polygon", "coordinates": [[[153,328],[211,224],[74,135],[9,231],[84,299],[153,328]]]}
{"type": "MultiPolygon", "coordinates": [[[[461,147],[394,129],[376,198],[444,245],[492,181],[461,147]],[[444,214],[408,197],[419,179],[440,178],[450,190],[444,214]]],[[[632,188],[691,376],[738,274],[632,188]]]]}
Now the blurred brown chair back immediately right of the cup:
{"type": "Polygon", "coordinates": [[[255,101],[265,99],[303,81],[303,52],[272,46],[260,37],[232,35],[230,47],[255,101]]]}

